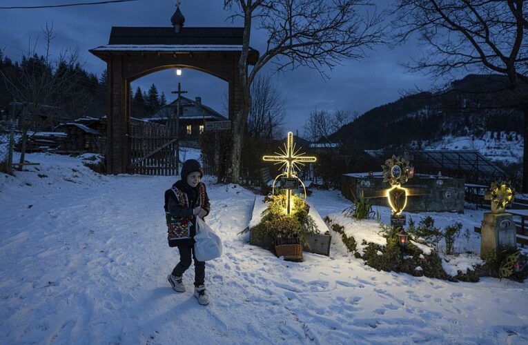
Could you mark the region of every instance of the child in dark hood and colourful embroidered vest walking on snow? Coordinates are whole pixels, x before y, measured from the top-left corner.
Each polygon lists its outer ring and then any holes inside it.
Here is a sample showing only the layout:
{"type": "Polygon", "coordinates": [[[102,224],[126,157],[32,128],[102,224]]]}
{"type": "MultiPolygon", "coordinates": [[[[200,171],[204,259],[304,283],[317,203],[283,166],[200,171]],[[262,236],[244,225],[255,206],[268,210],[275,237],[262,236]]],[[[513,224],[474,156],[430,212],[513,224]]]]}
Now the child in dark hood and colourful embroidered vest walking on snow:
{"type": "Polygon", "coordinates": [[[202,166],[196,159],[188,159],[182,167],[182,179],[165,192],[165,213],[168,226],[168,245],[178,247],[179,263],[168,275],[168,282],[179,293],[185,291],[182,275],[189,268],[191,257],[195,261],[195,297],[206,305],[209,297],[204,286],[205,262],[195,257],[196,217],[204,219],[211,206],[202,179],[202,166]]]}

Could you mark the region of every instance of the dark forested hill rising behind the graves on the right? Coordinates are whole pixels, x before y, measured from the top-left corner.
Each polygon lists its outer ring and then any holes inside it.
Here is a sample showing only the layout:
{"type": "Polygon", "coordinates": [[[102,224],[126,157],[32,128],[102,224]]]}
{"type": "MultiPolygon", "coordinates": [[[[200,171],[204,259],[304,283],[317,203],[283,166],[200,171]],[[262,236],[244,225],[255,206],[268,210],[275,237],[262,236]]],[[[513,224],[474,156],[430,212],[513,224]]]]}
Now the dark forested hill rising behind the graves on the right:
{"type": "Polygon", "coordinates": [[[442,92],[420,92],[379,106],[331,135],[346,148],[420,148],[447,135],[480,138],[487,132],[522,132],[507,80],[468,75],[442,92]]]}

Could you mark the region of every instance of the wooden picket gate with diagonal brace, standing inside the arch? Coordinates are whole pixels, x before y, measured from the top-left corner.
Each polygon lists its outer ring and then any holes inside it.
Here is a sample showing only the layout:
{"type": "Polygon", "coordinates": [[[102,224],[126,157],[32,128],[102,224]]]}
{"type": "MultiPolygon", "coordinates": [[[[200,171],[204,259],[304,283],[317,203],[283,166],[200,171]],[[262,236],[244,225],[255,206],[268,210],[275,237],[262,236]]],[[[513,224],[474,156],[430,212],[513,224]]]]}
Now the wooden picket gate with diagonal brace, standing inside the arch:
{"type": "Polygon", "coordinates": [[[178,141],[167,126],[130,121],[128,172],[141,175],[178,175],[178,141]]]}

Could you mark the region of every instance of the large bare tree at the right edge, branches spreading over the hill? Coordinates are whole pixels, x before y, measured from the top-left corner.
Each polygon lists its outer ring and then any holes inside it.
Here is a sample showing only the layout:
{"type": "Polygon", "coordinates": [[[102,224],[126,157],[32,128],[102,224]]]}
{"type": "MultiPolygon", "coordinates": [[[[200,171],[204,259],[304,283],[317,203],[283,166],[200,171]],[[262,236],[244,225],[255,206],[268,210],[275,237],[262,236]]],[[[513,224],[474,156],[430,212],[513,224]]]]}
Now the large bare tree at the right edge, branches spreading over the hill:
{"type": "MultiPolygon", "coordinates": [[[[522,110],[522,190],[528,192],[528,10],[523,0],[398,0],[393,26],[398,42],[412,34],[428,49],[409,63],[440,77],[453,70],[507,76],[511,99],[502,106],[522,110]]],[[[499,101],[499,100],[497,100],[499,101]]]]}

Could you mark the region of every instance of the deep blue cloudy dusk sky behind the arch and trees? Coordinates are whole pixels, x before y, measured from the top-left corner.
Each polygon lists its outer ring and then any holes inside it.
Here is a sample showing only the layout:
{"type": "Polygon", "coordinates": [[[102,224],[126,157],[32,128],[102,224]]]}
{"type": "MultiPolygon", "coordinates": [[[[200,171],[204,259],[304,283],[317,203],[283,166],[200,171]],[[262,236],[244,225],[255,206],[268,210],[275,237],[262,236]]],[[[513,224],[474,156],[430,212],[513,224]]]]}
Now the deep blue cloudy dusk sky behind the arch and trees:
{"type": "MultiPolygon", "coordinates": [[[[99,1],[99,0],[97,0],[99,1]]],[[[3,0],[1,7],[42,6],[65,3],[95,2],[77,0],[3,0]]],[[[384,8],[391,1],[375,1],[384,8]]],[[[98,77],[106,63],[88,52],[91,48],[108,43],[112,26],[171,26],[170,17],[175,11],[175,0],[139,0],[126,3],[112,3],[97,6],[75,6],[41,9],[0,9],[0,49],[13,60],[35,46],[43,52],[44,41],[41,28],[53,24],[57,35],[52,41],[52,52],[57,54],[66,48],[78,47],[80,61],[89,72],[98,77]]],[[[180,6],[186,27],[196,26],[242,26],[240,20],[232,23],[226,20],[229,12],[223,9],[221,0],[182,0],[180,6]]],[[[263,51],[266,35],[253,31],[251,46],[263,51]]],[[[378,46],[369,55],[359,60],[344,60],[328,72],[324,80],[316,70],[298,68],[273,75],[280,94],[286,99],[286,124],[284,130],[299,130],[302,135],[304,122],[311,110],[343,109],[362,114],[366,110],[395,101],[402,94],[414,88],[429,89],[433,80],[426,75],[408,72],[399,65],[420,55],[422,48],[407,43],[395,49],[378,46]]],[[[268,63],[261,72],[273,72],[268,63]]],[[[155,83],[159,92],[164,91],[168,101],[174,99],[171,90],[177,89],[181,81],[187,97],[202,97],[202,102],[215,110],[225,113],[222,105],[227,92],[227,83],[203,72],[184,70],[177,77],[173,70],[164,70],[148,75],[132,83],[147,90],[155,83]]]]}

